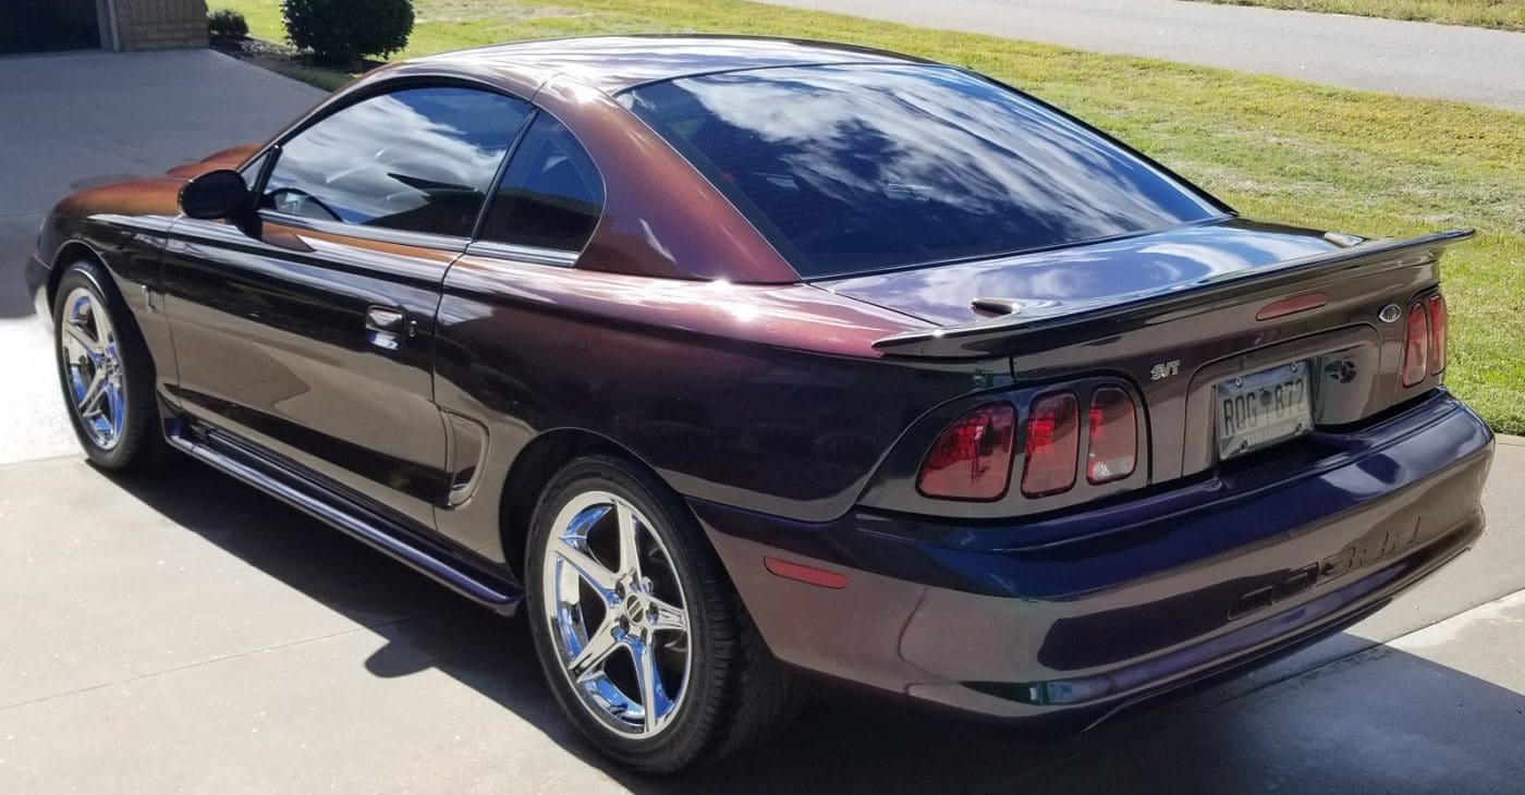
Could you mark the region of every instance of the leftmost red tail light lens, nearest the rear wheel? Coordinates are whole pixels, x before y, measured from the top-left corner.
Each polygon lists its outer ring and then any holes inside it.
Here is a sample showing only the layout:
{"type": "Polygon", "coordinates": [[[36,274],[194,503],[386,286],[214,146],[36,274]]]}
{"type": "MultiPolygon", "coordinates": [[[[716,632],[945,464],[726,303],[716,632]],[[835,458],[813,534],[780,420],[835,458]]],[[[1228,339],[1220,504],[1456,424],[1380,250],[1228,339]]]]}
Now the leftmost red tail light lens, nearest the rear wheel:
{"type": "Polygon", "coordinates": [[[1011,482],[1017,409],[987,403],[959,417],[921,461],[917,488],[929,497],[1000,499],[1011,482]]]}

